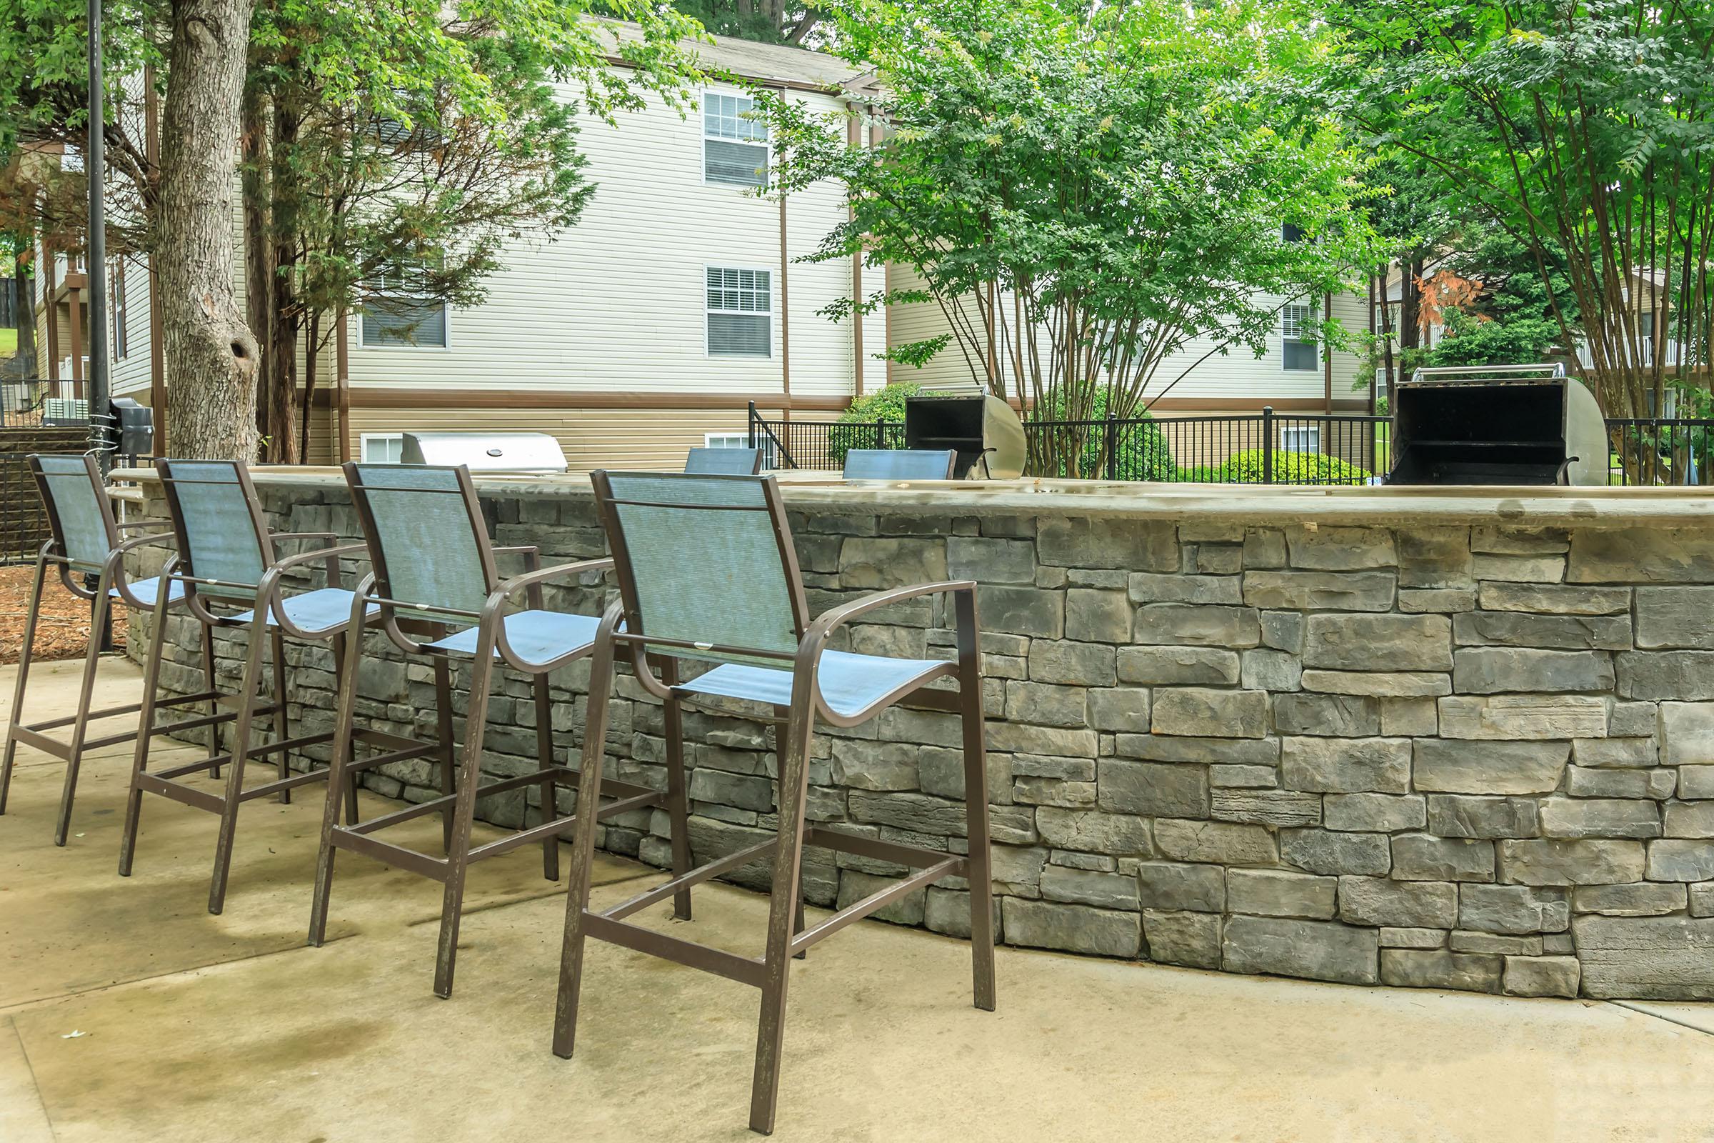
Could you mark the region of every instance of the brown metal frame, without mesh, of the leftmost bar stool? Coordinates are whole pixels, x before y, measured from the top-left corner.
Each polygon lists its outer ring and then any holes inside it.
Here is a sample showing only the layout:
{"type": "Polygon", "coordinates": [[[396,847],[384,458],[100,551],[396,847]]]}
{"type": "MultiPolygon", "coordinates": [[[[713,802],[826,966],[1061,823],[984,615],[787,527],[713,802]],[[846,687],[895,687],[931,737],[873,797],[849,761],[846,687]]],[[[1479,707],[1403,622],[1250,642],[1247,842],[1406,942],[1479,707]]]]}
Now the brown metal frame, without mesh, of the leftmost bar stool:
{"type": "MultiPolygon", "coordinates": [[[[48,512],[48,531],[50,540],[41,545],[36,554],[36,574],[31,579],[29,589],[29,612],[24,619],[24,646],[19,651],[17,660],[17,684],[12,694],[12,721],[7,725],[5,735],[5,761],[0,763],[0,814],[5,814],[7,792],[12,785],[12,764],[17,754],[17,744],[24,742],[38,751],[45,751],[65,763],[65,787],[60,792],[60,816],[53,826],[53,843],[65,845],[72,824],[72,800],[77,795],[77,773],[82,764],[84,751],[99,751],[106,745],[117,745],[120,742],[130,742],[139,735],[141,727],[132,730],[122,730],[113,733],[103,733],[94,739],[89,737],[89,723],[99,721],[103,718],[117,718],[120,715],[135,715],[142,709],[142,703],[125,703],[122,706],[108,706],[101,709],[91,709],[91,699],[94,696],[96,685],[96,665],[101,660],[101,631],[113,612],[111,591],[118,593],[118,598],[129,607],[149,610],[151,605],[144,603],[132,591],[130,577],[125,574],[125,557],[137,548],[149,545],[166,545],[173,542],[171,531],[156,531],[151,535],[132,536],[129,540],[122,538],[122,533],[135,528],[168,528],[165,519],[127,519],[118,521],[113,516],[113,504],[106,497],[105,482],[101,480],[101,470],[96,466],[94,456],[84,456],[84,466],[89,473],[91,487],[98,495],[101,506],[101,524],[106,531],[108,557],[101,564],[101,572],[96,579],[96,586],[91,589],[81,586],[75,579],[75,569],[67,555],[65,530],[60,524],[58,507],[55,506],[53,495],[48,492],[48,482],[41,471],[39,458],[29,458],[31,475],[36,478],[36,488],[41,494],[41,502],[48,512]],[[60,574],[60,584],[75,595],[79,600],[89,600],[93,605],[91,622],[89,622],[89,648],[84,653],[84,673],[82,684],[77,691],[77,711],[70,716],[50,718],[38,723],[24,721],[24,691],[29,680],[29,665],[34,658],[36,643],[36,622],[41,613],[41,600],[46,589],[46,572],[48,566],[55,566],[60,574]],[[48,730],[58,730],[62,727],[70,727],[72,735],[69,742],[50,737],[48,730]]],[[[159,584],[161,596],[168,596],[170,588],[163,581],[159,584]]],[[[177,607],[177,603],[168,603],[168,607],[177,607]]],[[[189,694],[180,699],[171,699],[161,703],[161,706],[190,706],[194,703],[211,703],[209,713],[199,718],[187,718],[173,723],[171,727],[161,727],[154,733],[175,733],[180,730],[192,730],[195,727],[211,727],[237,718],[235,711],[221,711],[218,701],[219,692],[214,689],[214,644],[207,637],[202,641],[202,679],[204,689],[189,694]]],[[[211,751],[213,754],[213,751],[211,751]]]]}

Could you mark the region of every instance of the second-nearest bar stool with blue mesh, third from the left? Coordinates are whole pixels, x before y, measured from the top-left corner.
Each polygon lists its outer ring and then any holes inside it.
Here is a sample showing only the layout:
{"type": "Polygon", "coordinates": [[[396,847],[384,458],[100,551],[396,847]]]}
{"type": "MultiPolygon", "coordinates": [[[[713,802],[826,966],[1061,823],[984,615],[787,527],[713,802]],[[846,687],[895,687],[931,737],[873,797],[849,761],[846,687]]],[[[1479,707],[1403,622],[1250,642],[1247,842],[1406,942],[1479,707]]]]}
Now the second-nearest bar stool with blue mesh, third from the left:
{"type": "MultiPolygon", "coordinates": [[[[542,874],[559,879],[559,838],[579,819],[608,819],[634,809],[663,807],[674,828],[674,853],[689,860],[686,841],[686,802],[682,759],[668,761],[665,793],[629,781],[600,781],[583,790],[600,790],[615,799],[595,814],[559,816],[557,787],[579,788],[578,771],[554,763],[552,711],[548,706],[548,672],[584,658],[595,639],[593,615],[550,612],[542,605],[542,584],[574,579],[584,572],[607,571],[612,560],[581,560],[559,567],[540,566],[535,547],[495,548],[482,518],[470,470],[423,464],[345,466],[363,535],[374,560],[374,574],[351,600],[351,617],[358,608],[379,608],[381,629],[394,646],[408,655],[425,655],[434,663],[435,716],[439,725],[442,795],[372,817],[362,824],[339,826],[339,799],[345,787],[327,785],[322,814],[321,859],[315,867],[315,901],[310,915],[310,944],[321,944],[327,931],[327,898],[333,888],[336,850],[374,857],[398,869],[420,874],[444,886],[440,905],[440,943],[435,953],[435,996],[452,994],[452,970],[458,958],[458,927],[464,901],[464,876],[473,862],[499,857],[531,841],[542,843],[542,874]],[[518,554],[524,574],[500,579],[495,554],[518,554]],[[507,613],[523,596],[524,608],[507,613]],[[417,637],[413,637],[417,636],[417,637]],[[464,718],[464,752],[452,785],[452,660],[470,658],[470,708],[464,718]],[[533,680],[538,768],[497,781],[482,781],[482,742],[487,730],[488,687],[495,667],[523,672],[533,680]],[[542,821],[509,836],[483,845],[470,843],[476,802],[494,793],[536,787],[542,821]],[[435,857],[377,835],[405,821],[440,814],[444,855],[435,857]]],[[[357,677],[360,658],[357,639],[346,648],[345,677],[357,677]]],[[[353,687],[339,691],[334,723],[333,766],[351,766],[353,687]]],[[[586,802],[579,795],[578,809],[586,802]]]]}

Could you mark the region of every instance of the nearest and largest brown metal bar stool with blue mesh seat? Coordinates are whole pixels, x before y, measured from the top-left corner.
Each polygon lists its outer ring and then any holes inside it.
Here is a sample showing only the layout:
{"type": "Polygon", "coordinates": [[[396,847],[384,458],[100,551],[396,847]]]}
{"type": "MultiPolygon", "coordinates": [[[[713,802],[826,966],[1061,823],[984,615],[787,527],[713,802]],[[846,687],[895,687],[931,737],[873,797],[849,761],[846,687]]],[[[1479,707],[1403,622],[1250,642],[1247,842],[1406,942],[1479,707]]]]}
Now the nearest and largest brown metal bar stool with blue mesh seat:
{"type": "MultiPolygon", "coordinates": [[[[744,699],[771,708],[778,727],[778,838],[763,841],[639,893],[610,908],[590,910],[595,823],[581,819],[572,838],[571,895],[560,958],[554,1052],[569,1057],[578,1030],[583,944],[598,937],[691,968],[761,989],[756,1074],[751,1088],[754,1131],[773,1131],[785,1037],[787,961],[941,877],[970,883],[970,943],[975,1006],[994,1008],[992,886],[989,881],[987,769],[982,747],[982,661],[977,653],[975,584],[929,583],[881,591],[845,603],[809,622],[797,555],[773,476],[692,476],[679,473],[591,473],[595,502],[607,528],[620,601],[608,608],[595,636],[590,715],[583,733],[583,780],[598,781],[603,766],[607,699],[614,661],[629,660],[638,682],[667,706],[668,742],[679,735],[679,706],[699,696],[744,699]],[[828,637],[876,608],[929,595],[946,595],[958,627],[956,661],[898,660],[826,649],[828,637]],[[687,682],[675,660],[716,663],[687,682]],[[655,673],[653,667],[668,668],[655,673]],[[956,692],[931,689],[953,679],[956,692]],[[910,696],[914,704],[955,709],[963,716],[965,817],[968,855],[944,853],[806,828],[809,744],[816,720],[855,727],[910,696]],[[782,718],[783,716],[783,718],[782,718]],[[915,869],[902,881],[804,929],[800,874],[812,845],[915,869]],[[761,958],[739,956],[626,920],[632,913],[689,893],[691,886],[773,857],[768,939],[761,958]]],[[[730,711],[723,711],[728,713],[730,711]]]]}

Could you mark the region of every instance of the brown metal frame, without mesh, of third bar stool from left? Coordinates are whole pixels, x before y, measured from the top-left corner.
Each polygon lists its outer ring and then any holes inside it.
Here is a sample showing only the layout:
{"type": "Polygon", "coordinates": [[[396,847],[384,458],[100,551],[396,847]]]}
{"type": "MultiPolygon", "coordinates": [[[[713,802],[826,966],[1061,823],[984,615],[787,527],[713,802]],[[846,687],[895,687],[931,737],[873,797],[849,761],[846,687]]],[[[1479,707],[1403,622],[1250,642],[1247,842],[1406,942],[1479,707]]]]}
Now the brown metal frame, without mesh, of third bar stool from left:
{"type": "MultiPolygon", "coordinates": [[[[559,785],[566,785],[572,790],[579,790],[581,776],[576,769],[554,763],[554,730],[547,684],[550,672],[588,656],[591,648],[590,644],[583,644],[545,663],[530,661],[521,658],[512,649],[506,637],[506,625],[502,619],[519,593],[523,593],[524,603],[530,610],[542,610],[542,584],[555,579],[581,576],[584,572],[608,571],[612,567],[612,560],[579,560],[576,564],[542,567],[540,550],[535,545],[492,547],[488,543],[487,526],[482,516],[482,504],[476,499],[475,485],[470,480],[470,471],[459,466],[458,490],[446,490],[444,495],[459,495],[464,502],[466,518],[470,519],[480,552],[485,576],[483,589],[488,598],[480,612],[461,612],[442,607],[434,608],[442,615],[464,617],[470,620],[468,625],[475,625],[478,631],[476,653],[470,675],[470,706],[464,715],[463,757],[458,764],[458,781],[454,785],[451,655],[444,649],[428,646],[428,643],[449,634],[456,625],[466,624],[415,619],[413,615],[423,610],[422,603],[396,600],[386,595],[386,552],[379,542],[381,533],[375,528],[372,506],[365,495],[362,471],[357,464],[348,463],[345,464],[345,476],[351,487],[351,500],[355,502],[358,518],[363,524],[363,535],[370,538],[374,567],[374,572],[367,576],[357,589],[357,596],[351,601],[351,615],[360,615],[367,605],[379,605],[381,629],[386,632],[387,639],[408,655],[423,655],[432,660],[435,672],[435,715],[439,721],[437,754],[440,757],[442,793],[437,799],[418,802],[381,817],[372,817],[362,824],[339,826],[339,799],[345,787],[341,781],[329,783],[327,807],[322,816],[321,855],[315,865],[315,898],[310,913],[309,943],[319,946],[326,939],[327,903],[333,889],[334,853],[338,850],[362,853],[396,869],[405,869],[422,877],[428,877],[430,881],[439,881],[444,886],[444,893],[440,905],[440,937],[435,951],[434,990],[435,996],[449,997],[452,994],[452,973],[458,961],[458,931],[463,917],[464,879],[470,865],[487,857],[509,853],[511,850],[530,845],[531,841],[540,841],[542,876],[548,881],[559,881],[559,838],[569,833],[572,826],[584,817],[581,812],[567,814],[564,817],[557,816],[555,788],[559,785]],[[524,572],[521,576],[512,576],[511,579],[500,579],[494,557],[502,554],[521,555],[524,572]],[[406,634],[406,631],[410,631],[410,634],[406,634]],[[413,639],[411,634],[423,637],[413,639]],[[483,783],[482,745],[487,732],[488,689],[497,665],[495,655],[499,655],[499,665],[526,673],[533,680],[538,769],[530,775],[518,775],[483,783]],[[470,835],[476,814],[476,802],[492,793],[504,793],[507,790],[518,790],[530,785],[540,787],[542,821],[535,826],[519,828],[495,841],[471,847],[470,835]],[[375,836],[375,833],[386,829],[387,826],[396,826],[437,811],[440,812],[440,840],[444,857],[434,857],[375,836]]],[[[355,679],[357,665],[362,655],[362,648],[357,639],[350,643],[345,655],[345,677],[355,679]]],[[[345,768],[353,764],[350,761],[353,715],[355,689],[345,687],[339,692],[339,711],[334,721],[336,739],[333,766],[336,773],[343,773],[345,768]]],[[[682,761],[668,761],[668,788],[665,793],[650,787],[617,780],[598,780],[596,788],[600,788],[603,797],[612,797],[615,800],[602,805],[596,814],[588,816],[590,821],[608,819],[617,814],[644,807],[667,809],[675,836],[674,853],[677,855],[682,848],[686,860],[689,859],[689,843],[679,841],[687,836],[682,761]]],[[[583,809],[581,797],[578,800],[578,809],[583,809]]]]}

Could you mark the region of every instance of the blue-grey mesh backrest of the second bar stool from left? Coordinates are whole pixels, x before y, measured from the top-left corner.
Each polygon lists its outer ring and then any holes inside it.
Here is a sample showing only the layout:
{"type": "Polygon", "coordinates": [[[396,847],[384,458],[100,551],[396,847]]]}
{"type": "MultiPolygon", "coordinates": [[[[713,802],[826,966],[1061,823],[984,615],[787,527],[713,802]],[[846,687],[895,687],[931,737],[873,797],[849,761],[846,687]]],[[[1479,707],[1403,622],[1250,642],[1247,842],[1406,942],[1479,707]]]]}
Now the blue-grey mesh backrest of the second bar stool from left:
{"type": "Polygon", "coordinates": [[[274,562],[250,475],[238,461],[154,463],[173,516],[183,572],[197,595],[250,598],[274,562]]]}

